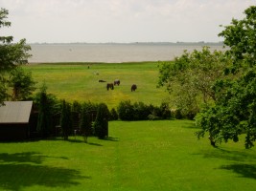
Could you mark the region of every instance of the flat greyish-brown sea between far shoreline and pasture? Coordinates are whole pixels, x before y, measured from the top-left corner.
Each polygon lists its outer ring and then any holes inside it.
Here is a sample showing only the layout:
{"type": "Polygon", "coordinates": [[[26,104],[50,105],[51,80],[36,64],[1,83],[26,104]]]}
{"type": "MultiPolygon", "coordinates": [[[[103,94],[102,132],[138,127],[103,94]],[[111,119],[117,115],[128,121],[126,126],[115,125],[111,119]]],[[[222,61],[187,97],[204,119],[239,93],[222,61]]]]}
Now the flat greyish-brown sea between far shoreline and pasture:
{"type": "Polygon", "coordinates": [[[56,62],[142,62],[169,61],[184,51],[202,50],[208,46],[211,51],[223,51],[220,43],[35,43],[30,44],[32,57],[29,63],[56,62]]]}

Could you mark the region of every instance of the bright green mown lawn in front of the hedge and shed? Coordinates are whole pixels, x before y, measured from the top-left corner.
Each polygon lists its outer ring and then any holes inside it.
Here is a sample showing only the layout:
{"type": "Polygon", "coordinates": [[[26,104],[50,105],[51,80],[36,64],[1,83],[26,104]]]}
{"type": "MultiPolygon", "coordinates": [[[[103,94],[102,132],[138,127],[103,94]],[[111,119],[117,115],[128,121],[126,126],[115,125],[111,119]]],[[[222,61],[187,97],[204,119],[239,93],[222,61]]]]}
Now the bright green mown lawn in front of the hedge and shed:
{"type": "Polygon", "coordinates": [[[109,138],[0,143],[0,190],[256,190],[255,148],[198,140],[189,120],[111,121],[109,138]]]}

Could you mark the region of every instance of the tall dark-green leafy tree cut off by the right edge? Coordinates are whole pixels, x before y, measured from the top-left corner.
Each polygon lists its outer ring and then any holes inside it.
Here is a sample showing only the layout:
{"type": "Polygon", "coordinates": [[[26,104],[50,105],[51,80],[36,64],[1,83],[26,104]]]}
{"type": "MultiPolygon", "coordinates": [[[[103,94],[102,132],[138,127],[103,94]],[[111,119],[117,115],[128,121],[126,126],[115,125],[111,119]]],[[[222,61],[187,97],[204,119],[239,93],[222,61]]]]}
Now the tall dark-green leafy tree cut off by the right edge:
{"type": "Polygon", "coordinates": [[[236,77],[216,81],[216,103],[199,113],[196,121],[201,128],[198,138],[209,133],[213,143],[220,143],[238,141],[245,134],[245,148],[250,148],[256,140],[256,7],[244,14],[244,19],[233,19],[220,33],[233,59],[229,72],[236,77]]]}

